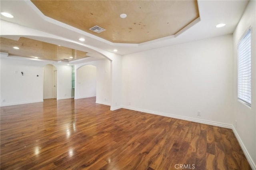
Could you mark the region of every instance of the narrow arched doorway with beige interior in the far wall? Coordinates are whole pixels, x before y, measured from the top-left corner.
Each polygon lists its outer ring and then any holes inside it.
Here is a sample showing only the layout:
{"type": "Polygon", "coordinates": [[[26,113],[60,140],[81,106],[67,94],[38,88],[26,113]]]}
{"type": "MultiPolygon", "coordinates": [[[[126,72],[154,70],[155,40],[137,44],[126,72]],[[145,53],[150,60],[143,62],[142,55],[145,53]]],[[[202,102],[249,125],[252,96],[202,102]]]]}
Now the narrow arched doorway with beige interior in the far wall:
{"type": "Polygon", "coordinates": [[[57,99],[57,69],[54,65],[44,66],[44,95],[43,99],[57,99]]]}

